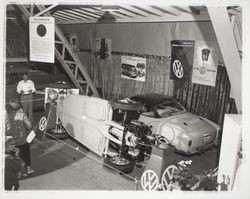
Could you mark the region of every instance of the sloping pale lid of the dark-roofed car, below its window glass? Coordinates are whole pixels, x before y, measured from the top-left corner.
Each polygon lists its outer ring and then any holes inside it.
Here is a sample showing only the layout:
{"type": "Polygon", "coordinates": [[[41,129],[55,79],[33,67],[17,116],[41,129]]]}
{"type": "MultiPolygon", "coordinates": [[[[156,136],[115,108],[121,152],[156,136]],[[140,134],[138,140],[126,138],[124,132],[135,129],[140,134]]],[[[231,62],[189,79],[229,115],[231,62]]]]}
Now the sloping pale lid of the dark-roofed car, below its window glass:
{"type": "Polygon", "coordinates": [[[189,133],[206,133],[213,132],[217,129],[216,124],[214,124],[213,122],[192,113],[183,113],[171,116],[167,119],[167,122],[173,125],[177,125],[189,133]]]}

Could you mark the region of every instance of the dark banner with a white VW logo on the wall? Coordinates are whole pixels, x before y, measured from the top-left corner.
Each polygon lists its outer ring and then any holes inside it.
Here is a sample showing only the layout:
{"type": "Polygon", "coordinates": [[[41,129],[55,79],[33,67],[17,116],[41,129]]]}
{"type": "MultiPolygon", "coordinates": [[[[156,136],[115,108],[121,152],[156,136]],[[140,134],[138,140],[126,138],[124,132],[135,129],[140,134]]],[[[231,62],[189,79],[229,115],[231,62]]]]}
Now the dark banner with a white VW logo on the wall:
{"type": "Polygon", "coordinates": [[[171,41],[170,79],[190,81],[194,58],[194,41],[171,41]]]}

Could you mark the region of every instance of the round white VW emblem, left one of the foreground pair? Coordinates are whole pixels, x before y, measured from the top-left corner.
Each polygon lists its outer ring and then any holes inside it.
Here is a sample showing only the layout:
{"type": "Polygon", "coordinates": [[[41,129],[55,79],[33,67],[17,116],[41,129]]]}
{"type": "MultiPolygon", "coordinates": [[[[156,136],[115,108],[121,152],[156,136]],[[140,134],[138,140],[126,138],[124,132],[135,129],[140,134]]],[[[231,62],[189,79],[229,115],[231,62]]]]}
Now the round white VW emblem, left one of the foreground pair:
{"type": "Polygon", "coordinates": [[[155,191],[159,186],[159,178],[153,170],[147,170],[142,174],[141,185],[145,191],[155,191]]]}

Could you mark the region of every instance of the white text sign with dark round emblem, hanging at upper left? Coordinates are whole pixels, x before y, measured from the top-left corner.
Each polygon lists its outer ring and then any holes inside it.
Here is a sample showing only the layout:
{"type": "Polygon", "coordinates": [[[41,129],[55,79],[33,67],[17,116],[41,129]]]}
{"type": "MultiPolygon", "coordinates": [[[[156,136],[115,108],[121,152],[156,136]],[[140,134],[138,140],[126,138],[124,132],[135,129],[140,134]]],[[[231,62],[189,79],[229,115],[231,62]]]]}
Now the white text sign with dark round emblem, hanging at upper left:
{"type": "Polygon", "coordinates": [[[55,20],[53,17],[30,17],[30,61],[55,62],[55,20]]]}

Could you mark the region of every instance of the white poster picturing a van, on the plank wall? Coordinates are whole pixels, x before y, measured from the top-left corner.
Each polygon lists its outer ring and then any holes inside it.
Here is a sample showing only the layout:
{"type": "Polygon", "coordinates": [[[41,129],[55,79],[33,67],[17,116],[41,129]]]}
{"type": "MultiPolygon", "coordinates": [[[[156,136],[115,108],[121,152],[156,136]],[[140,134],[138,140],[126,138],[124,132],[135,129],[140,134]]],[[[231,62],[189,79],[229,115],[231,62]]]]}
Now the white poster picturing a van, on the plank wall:
{"type": "Polygon", "coordinates": [[[122,56],[121,78],[145,81],[146,58],[122,56]]]}

